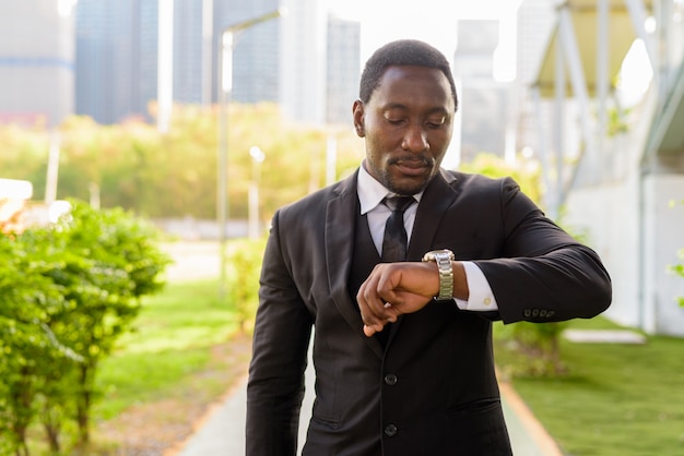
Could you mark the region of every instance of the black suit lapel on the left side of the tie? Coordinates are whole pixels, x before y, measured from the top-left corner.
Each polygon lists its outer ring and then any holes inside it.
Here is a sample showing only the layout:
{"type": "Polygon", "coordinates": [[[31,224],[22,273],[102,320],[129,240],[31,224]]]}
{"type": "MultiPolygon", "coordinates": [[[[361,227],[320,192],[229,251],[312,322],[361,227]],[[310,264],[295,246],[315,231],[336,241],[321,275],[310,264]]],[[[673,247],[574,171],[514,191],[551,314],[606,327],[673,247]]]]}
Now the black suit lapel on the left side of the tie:
{"type": "Polygon", "coordinates": [[[354,224],[358,195],[356,176],[342,181],[335,192],[338,197],[328,202],[326,213],[326,265],[331,298],[352,328],[363,337],[375,353],[382,358],[382,346],[375,337],[363,334],[363,322],[349,295],[347,281],[354,249],[354,224]]]}

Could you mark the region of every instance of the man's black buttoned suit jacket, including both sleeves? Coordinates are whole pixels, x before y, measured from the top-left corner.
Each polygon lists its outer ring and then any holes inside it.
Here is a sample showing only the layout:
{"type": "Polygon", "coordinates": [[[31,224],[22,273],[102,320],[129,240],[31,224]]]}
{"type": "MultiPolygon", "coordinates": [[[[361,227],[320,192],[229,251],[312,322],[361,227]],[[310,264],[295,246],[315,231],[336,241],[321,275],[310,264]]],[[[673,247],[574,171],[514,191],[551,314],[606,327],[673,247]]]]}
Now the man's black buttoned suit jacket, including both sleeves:
{"type": "Polygon", "coordinates": [[[450,249],[484,272],[498,312],[432,302],[363,334],[347,289],[356,175],[273,217],[247,396],[247,454],[294,455],[311,328],[316,400],[305,455],[508,455],[491,320],[591,317],[611,299],[599,257],[510,179],[440,171],[417,207],[409,260],[450,249]]]}

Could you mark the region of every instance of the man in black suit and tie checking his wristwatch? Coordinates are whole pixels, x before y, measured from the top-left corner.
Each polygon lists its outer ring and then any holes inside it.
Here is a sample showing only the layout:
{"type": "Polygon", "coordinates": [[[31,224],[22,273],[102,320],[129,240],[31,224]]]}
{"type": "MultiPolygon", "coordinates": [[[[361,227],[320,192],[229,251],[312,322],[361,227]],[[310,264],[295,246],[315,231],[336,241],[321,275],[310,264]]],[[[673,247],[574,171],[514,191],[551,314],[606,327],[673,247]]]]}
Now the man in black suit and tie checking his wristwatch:
{"type": "Polygon", "coordinates": [[[296,453],[314,325],[304,455],[510,455],[491,321],[591,317],[610,304],[597,254],[512,180],[440,169],[456,110],[439,51],[415,40],[384,46],[353,106],[366,159],[274,215],[249,371],[248,455],[296,453]],[[414,201],[402,214],[387,195],[414,201]],[[404,254],[384,233],[400,218],[406,232],[394,239],[410,240],[406,261],[381,261],[404,254]]]}

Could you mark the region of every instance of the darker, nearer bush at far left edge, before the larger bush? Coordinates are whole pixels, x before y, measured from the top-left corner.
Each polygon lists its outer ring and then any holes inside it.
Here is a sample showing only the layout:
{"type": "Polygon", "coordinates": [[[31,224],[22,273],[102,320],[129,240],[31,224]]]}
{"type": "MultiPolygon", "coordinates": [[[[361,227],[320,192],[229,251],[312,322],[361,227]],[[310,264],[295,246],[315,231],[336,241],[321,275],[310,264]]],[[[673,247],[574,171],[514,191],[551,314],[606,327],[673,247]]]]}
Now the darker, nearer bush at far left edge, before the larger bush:
{"type": "Polygon", "coordinates": [[[70,355],[54,341],[47,326],[64,300],[45,276],[55,257],[40,237],[0,236],[0,256],[5,259],[0,267],[0,442],[16,454],[27,454],[26,432],[38,412],[36,396],[47,387],[54,365],[70,355]]]}

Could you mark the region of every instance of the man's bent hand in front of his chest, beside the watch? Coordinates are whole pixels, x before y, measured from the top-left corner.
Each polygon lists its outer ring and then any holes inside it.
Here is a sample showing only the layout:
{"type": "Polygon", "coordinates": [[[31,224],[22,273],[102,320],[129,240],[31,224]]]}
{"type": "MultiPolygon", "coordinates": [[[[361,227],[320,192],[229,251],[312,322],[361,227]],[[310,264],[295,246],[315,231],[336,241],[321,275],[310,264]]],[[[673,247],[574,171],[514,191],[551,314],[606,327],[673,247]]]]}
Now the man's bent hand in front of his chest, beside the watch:
{"type": "Polygon", "coordinates": [[[434,262],[380,263],[356,295],[364,333],[370,337],[404,313],[423,309],[439,291],[434,262]]]}

